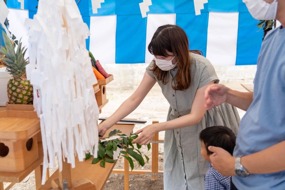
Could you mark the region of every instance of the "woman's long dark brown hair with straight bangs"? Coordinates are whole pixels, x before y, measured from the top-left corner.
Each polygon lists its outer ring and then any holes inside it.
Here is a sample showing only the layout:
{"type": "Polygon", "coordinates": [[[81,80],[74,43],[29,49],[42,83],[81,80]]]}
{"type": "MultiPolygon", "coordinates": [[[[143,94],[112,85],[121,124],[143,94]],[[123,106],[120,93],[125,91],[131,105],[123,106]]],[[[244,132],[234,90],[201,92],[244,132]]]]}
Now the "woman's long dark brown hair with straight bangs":
{"type": "MultiPolygon", "coordinates": [[[[158,27],[149,45],[148,51],[155,56],[171,56],[172,52],[177,61],[178,71],[175,76],[176,86],[172,83],[174,90],[186,90],[191,83],[191,62],[189,57],[189,42],[186,33],[176,25],[166,24],[158,27]]],[[[202,54],[199,50],[190,52],[202,54]]],[[[154,61],[154,60],[153,60],[154,61]]],[[[156,64],[150,69],[159,81],[168,83],[168,71],[163,71],[156,64]]]]}

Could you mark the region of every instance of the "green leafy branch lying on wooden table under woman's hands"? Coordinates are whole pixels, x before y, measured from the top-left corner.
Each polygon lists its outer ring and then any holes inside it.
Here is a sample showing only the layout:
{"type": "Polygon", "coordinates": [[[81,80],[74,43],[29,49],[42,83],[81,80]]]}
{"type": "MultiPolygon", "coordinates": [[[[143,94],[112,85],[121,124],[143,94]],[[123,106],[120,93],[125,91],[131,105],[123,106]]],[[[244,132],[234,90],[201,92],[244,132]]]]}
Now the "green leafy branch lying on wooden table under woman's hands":
{"type": "MultiPolygon", "coordinates": [[[[101,167],[105,167],[105,163],[115,163],[116,161],[111,159],[113,158],[114,151],[117,150],[117,148],[122,148],[123,150],[120,151],[121,156],[126,158],[129,161],[129,164],[131,166],[131,169],[134,169],[134,162],[133,159],[135,159],[140,166],[144,166],[145,162],[142,156],[141,151],[139,150],[142,146],[137,144],[137,148],[135,149],[132,141],[138,137],[137,134],[131,133],[130,136],[127,136],[125,134],[119,134],[121,133],[120,130],[113,130],[109,133],[108,137],[116,135],[116,136],[123,136],[119,139],[114,140],[108,140],[103,141],[99,140],[99,146],[98,146],[98,152],[97,152],[97,158],[94,158],[92,160],[92,164],[97,164],[100,162],[101,167]],[[110,158],[106,157],[109,156],[110,158]],[[132,159],[133,158],[133,159],[132,159]]],[[[150,144],[147,145],[148,150],[150,150],[150,144]]],[[[90,159],[92,156],[90,153],[86,154],[85,160],[90,159]]],[[[144,157],[146,158],[146,161],[148,162],[149,158],[144,154],[144,157]]]]}

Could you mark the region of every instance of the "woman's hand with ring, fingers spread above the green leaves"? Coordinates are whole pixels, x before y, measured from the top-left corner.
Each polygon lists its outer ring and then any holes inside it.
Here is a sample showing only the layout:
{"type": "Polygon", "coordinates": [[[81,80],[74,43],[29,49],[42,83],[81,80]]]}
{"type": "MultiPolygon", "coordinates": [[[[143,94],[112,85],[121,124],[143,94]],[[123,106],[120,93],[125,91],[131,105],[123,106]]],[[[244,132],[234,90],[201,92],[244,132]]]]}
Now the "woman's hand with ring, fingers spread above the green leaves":
{"type": "Polygon", "coordinates": [[[148,125],[136,132],[136,134],[139,133],[141,133],[141,135],[133,140],[133,143],[138,143],[139,145],[148,145],[156,133],[155,124],[148,125]]]}

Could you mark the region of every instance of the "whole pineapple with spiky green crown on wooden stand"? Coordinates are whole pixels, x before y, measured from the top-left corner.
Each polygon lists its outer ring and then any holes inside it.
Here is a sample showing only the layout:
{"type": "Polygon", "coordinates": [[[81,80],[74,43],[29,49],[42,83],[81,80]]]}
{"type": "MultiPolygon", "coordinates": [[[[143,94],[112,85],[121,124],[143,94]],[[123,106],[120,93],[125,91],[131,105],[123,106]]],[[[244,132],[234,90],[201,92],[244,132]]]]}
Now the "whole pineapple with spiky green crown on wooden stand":
{"type": "MultiPolygon", "coordinates": [[[[30,81],[27,80],[26,65],[28,61],[24,56],[27,48],[21,48],[22,43],[19,43],[15,52],[14,46],[9,37],[2,31],[5,47],[1,47],[0,60],[7,68],[13,78],[11,78],[7,85],[7,93],[9,104],[32,104],[33,87],[30,81]]],[[[20,40],[21,41],[21,40],[20,40]]]]}

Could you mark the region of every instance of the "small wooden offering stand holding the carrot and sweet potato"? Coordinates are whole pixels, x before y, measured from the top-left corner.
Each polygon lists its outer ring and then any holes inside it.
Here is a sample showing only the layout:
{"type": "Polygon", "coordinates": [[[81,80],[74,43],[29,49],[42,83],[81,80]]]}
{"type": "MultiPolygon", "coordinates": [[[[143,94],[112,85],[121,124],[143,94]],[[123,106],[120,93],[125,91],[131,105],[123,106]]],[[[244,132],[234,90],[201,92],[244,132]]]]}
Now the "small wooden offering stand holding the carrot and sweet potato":
{"type": "Polygon", "coordinates": [[[113,75],[109,75],[109,77],[104,80],[97,80],[97,84],[99,85],[99,91],[95,93],[95,97],[99,107],[107,103],[106,85],[113,80],[113,75]]]}

